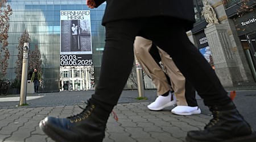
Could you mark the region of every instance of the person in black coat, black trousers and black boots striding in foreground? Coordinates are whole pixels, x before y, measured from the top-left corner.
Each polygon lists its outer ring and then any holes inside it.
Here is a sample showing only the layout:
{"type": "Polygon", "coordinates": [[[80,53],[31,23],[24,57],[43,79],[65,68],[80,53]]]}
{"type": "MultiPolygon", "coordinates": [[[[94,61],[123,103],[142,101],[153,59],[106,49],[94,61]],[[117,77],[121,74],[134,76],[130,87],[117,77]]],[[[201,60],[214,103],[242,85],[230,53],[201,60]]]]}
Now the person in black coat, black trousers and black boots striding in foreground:
{"type": "MultiPolygon", "coordinates": [[[[86,5],[93,9],[103,2],[87,0],[86,5]]],[[[189,41],[186,31],[193,28],[193,23],[193,1],[107,0],[102,19],[106,43],[94,94],[80,114],[68,118],[47,116],[39,127],[55,141],[102,141],[109,115],[133,68],[135,37],[145,35],[172,57],[212,111],[213,118],[204,130],[187,133],[188,141],[255,141],[255,132],[207,60],[189,41]]]]}

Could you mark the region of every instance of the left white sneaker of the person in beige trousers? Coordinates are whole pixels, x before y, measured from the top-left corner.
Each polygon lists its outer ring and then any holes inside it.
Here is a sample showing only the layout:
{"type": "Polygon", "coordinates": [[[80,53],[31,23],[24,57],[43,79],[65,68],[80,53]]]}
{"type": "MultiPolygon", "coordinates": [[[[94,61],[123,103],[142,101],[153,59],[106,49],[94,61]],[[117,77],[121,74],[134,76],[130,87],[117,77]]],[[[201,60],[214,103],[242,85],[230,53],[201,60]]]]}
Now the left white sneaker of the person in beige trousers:
{"type": "Polygon", "coordinates": [[[176,104],[175,95],[169,92],[167,96],[159,95],[158,98],[155,99],[155,102],[152,102],[147,106],[150,110],[162,110],[165,107],[172,106],[176,104]]]}

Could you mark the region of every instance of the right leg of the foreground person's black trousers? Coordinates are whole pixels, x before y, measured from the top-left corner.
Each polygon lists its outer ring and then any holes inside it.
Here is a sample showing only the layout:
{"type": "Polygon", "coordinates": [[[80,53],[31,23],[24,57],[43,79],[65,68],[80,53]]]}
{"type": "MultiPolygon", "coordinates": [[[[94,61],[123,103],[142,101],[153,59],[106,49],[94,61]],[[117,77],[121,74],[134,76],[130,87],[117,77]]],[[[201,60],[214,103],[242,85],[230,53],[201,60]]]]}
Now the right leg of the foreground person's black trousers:
{"type": "Polygon", "coordinates": [[[186,80],[191,82],[204,99],[205,105],[222,106],[229,103],[230,98],[218,77],[199,50],[189,41],[181,25],[182,21],[179,22],[178,19],[154,18],[147,24],[145,32],[172,57],[186,80]],[[171,23],[174,26],[170,27],[171,23]]]}

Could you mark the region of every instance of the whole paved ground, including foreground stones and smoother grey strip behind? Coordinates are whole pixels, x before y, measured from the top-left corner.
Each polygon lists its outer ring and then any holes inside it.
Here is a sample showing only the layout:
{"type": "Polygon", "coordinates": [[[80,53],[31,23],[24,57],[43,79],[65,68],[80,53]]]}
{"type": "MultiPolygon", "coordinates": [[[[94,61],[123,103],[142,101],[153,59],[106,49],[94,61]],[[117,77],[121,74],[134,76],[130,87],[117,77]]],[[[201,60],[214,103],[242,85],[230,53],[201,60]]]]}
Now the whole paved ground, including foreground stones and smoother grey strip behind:
{"type": "MultiPolygon", "coordinates": [[[[244,103],[244,105],[255,109],[255,103],[253,103],[255,102],[255,92],[240,93],[241,95],[237,97],[237,100],[246,99],[247,104],[244,103]]],[[[39,97],[27,101],[29,106],[22,107],[15,106],[18,105],[17,101],[0,102],[0,141],[52,141],[40,130],[40,120],[48,115],[65,118],[80,113],[81,108],[77,105],[85,107],[80,102],[81,100],[85,101],[92,93],[93,91],[67,91],[31,94],[31,96],[39,97]]],[[[212,118],[209,116],[207,108],[202,105],[200,98],[197,98],[197,101],[202,114],[179,116],[171,113],[170,110],[174,106],[164,108],[162,111],[148,110],[147,105],[154,101],[156,91],[146,90],[145,94],[148,100],[138,101],[135,99],[138,97],[137,91],[123,91],[118,105],[114,107],[114,112],[116,112],[119,120],[116,122],[113,116],[110,116],[105,142],[185,141],[188,131],[203,129],[212,118]]],[[[9,95],[8,97],[17,97],[17,95],[9,95]]],[[[0,99],[2,98],[0,97],[0,99]]],[[[238,101],[238,103],[240,102],[238,101]]],[[[251,113],[252,111],[255,112],[253,109],[246,108],[248,111],[243,112],[243,114],[253,114],[251,113]]],[[[254,116],[251,117],[255,118],[254,116]]],[[[245,118],[249,119],[247,116],[245,118]]]]}

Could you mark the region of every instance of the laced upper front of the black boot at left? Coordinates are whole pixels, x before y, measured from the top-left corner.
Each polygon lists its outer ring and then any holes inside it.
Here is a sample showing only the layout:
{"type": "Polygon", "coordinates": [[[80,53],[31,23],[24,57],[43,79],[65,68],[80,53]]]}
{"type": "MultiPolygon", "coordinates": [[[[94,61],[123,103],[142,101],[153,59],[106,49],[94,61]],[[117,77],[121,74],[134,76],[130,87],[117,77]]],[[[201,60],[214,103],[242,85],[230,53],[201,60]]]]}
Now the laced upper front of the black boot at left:
{"type": "MultiPolygon", "coordinates": [[[[84,102],[84,101],[82,101],[82,102],[84,102]]],[[[81,106],[79,106],[79,108],[82,109],[82,112],[80,114],[76,114],[76,115],[67,117],[67,119],[70,119],[71,123],[79,122],[81,120],[88,118],[90,116],[90,114],[92,113],[92,111],[94,110],[95,106],[91,105],[89,101],[87,101],[87,103],[86,102],[84,102],[84,103],[86,104],[85,108],[82,108],[81,106]]]]}

